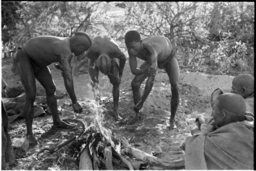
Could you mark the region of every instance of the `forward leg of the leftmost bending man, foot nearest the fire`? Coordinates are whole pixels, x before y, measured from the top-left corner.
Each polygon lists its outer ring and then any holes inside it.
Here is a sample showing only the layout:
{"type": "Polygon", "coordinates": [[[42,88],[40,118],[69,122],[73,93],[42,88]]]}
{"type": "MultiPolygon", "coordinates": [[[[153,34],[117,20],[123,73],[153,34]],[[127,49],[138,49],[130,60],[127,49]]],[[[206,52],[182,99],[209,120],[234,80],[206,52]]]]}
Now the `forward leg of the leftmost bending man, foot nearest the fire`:
{"type": "Polygon", "coordinates": [[[63,128],[63,129],[71,129],[73,126],[65,123],[59,118],[58,115],[58,109],[57,109],[57,100],[55,97],[55,84],[52,79],[51,72],[46,67],[41,67],[38,72],[36,73],[36,79],[39,81],[39,83],[45,88],[46,90],[46,101],[47,105],[49,106],[51,112],[52,112],[52,118],[53,118],[53,127],[54,128],[63,128]]]}

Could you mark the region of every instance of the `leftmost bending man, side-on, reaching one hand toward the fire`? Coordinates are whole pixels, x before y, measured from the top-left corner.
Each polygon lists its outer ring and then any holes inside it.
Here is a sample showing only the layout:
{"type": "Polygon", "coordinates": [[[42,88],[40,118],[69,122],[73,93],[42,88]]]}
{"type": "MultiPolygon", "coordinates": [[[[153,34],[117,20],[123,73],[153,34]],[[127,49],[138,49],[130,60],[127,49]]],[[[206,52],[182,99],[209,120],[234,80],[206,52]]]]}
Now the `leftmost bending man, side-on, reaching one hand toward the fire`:
{"type": "Polygon", "coordinates": [[[31,146],[37,144],[32,132],[33,103],[36,95],[35,78],[46,90],[47,104],[53,116],[53,128],[73,128],[59,118],[55,97],[56,87],[48,65],[54,62],[61,63],[64,84],[70,95],[74,112],[81,113],[82,108],[78,104],[74,92],[70,61],[72,53],[78,56],[88,50],[90,45],[88,38],[82,35],[72,37],[39,36],[28,40],[22,49],[16,52],[15,65],[26,93],[23,112],[27,125],[26,136],[31,146]]]}

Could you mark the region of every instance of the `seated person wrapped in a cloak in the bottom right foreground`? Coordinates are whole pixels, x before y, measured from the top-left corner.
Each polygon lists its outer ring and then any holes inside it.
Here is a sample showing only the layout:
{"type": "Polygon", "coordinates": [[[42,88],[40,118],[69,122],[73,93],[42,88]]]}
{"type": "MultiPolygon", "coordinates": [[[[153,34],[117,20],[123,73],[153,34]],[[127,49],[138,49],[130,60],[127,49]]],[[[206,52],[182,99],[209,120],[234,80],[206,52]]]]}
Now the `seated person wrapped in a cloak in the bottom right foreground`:
{"type": "MultiPolygon", "coordinates": [[[[222,93],[212,103],[213,123],[187,137],[185,169],[253,169],[254,117],[243,97],[222,93]]],[[[200,121],[199,121],[200,122],[200,121]]]]}

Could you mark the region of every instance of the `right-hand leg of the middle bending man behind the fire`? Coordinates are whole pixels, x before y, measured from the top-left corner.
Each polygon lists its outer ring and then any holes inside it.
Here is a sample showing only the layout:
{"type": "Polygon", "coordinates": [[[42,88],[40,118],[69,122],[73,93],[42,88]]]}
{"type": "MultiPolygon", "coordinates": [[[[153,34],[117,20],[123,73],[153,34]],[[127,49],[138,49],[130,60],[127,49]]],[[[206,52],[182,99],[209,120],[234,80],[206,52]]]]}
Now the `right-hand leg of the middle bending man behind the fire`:
{"type": "Polygon", "coordinates": [[[114,100],[114,107],[113,111],[115,114],[116,120],[120,120],[121,117],[118,113],[118,103],[119,103],[119,85],[120,85],[120,78],[119,78],[119,65],[116,61],[116,59],[111,60],[111,74],[108,75],[110,79],[110,83],[113,85],[112,94],[113,94],[113,100],[114,100]]]}

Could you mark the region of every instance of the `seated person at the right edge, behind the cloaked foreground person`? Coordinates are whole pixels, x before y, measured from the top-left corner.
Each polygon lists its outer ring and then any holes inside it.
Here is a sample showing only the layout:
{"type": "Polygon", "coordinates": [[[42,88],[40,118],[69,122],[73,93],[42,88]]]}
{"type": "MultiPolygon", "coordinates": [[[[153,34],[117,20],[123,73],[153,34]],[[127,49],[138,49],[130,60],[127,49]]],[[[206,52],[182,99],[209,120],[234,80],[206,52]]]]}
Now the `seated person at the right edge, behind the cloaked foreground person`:
{"type": "Polygon", "coordinates": [[[252,75],[242,74],[234,77],[231,92],[242,95],[246,111],[254,113],[254,77],[252,75]]]}

